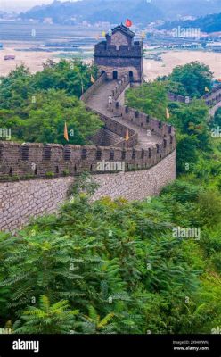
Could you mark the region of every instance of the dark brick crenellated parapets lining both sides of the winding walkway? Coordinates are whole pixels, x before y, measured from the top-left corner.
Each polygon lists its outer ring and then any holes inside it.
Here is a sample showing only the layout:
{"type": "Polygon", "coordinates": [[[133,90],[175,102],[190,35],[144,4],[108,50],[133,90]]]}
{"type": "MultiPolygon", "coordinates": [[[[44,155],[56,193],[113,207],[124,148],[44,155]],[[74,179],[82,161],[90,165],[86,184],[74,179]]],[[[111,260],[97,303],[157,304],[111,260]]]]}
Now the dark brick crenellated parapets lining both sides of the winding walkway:
{"type": "MultiPolygon", "coordinates": [[[[105,75],[98,79],[89,91],[93,94],[97,86],[102,85],[105,75]]],[[[113,89],[113,97],[122,94],[128,85],[128,76],[119,80],[113,89]]],[[[86,95],[86,94],[85,94],[86,95]]],[[[85,98],[84,98],[85,100],[85,98]]],[[[88,108],[90,110],[90,108],[88,108]]],[[[49,178],[60,176],[73,176],[83,171],[97,172],[97,162],[123,161],[126,170],[147,169],[160,162],[164,157],[171,154],[176,148],[175,129],[160,120],[152,118],[143,112],[129,108],[119,101],[113,100],[110,105],[110,115],[96,112],[104,123],[104,129],[121,137],[117,142],[110,134],[110,146],[96,145],[43,145],[40,143],[12,143],[0,142],[0,180],[49,178]],[[125,139],[127,125],[114,120],[113,115],[122,117],[128,121],[128,140],[125,139]],[[137,148],[138,134],[131,129],[129,123],[133,122],[137,127],[146,129],[150,134],[160,137],[160,144],[145,145],[145,149],[137,148]],[[135,147],[136,146],[136,147],[135,147]]]]}

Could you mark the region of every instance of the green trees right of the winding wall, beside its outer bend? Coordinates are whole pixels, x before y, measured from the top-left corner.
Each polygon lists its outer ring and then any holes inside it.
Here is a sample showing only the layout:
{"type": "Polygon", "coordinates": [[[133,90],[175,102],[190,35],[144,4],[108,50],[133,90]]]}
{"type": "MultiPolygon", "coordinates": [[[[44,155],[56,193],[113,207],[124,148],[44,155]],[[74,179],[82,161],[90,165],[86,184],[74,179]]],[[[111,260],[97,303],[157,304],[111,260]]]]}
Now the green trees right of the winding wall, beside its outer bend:
{"type": "MultiPolygon", "coordinates": [[[[127,91],[127,104],[153,117],[166,121],[167,108],[169,122],[176,127],[177,172],[195,172],[201,175],[201,168],[208,171],[216,166],[217,158],[212,154],[212,138],[209,129],[209,108],[201,99],[193,98],[188,105],[169,102],[167,92],[171,90],[179,95],[201,96],[205,87],[211,87],[212,77],[209,67],[192,62],[183,67],[176,67],[164,78],[144,83],[143,86],[127,91]],[[195,77],[194,77],[195,76],[195,77]],[[210,161],[208,162],[208,155],[210,161]]],[[[218,112],[216,118],[218,118],[218,112]]],[[[215,119],[218,120],[218,119],[215,119]]]]}

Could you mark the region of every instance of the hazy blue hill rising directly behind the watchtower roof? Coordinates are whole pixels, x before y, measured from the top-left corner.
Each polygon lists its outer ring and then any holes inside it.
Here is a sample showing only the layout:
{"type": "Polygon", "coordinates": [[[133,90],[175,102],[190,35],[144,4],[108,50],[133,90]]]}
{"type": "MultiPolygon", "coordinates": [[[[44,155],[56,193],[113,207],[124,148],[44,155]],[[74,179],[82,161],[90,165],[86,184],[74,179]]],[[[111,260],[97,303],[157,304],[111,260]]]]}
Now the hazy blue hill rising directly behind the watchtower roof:
{"type": "Polygon", "coordinates": [[[28,12],[21,13],[24,20],[35,19],[43,21],[51,17],[53,22],[70,23],[76,21],[109,21],[117,23],[132,19],[136,23],[148,23],[163,18],[163,13],[154,4],[146,0],[83,0],[75,3],[60,3],[35,6],[28,12]]]}

